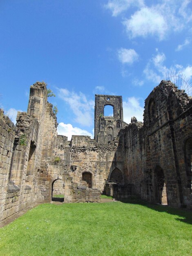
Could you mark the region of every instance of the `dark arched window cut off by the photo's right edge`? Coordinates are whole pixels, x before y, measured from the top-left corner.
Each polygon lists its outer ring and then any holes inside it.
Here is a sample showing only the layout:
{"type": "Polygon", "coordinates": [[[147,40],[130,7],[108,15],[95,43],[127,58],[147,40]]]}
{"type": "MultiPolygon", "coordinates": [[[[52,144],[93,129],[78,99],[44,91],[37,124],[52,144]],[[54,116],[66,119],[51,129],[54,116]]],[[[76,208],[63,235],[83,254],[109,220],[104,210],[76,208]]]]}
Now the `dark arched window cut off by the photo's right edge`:
{"type": "Polygon", "coordinates": [[[185,165],[187,174],[187,187],[192,189],[192,138],[185,143],[185,165]]]}

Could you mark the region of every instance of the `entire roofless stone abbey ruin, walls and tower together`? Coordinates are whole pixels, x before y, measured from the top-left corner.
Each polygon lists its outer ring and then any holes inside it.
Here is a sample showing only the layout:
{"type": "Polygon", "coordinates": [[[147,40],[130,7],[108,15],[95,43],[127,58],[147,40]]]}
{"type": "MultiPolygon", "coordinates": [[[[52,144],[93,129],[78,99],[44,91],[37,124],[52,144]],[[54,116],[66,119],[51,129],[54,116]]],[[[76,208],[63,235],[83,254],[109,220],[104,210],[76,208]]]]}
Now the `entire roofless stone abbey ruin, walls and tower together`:
{"type": "Polygon", "coordinates": [[[16,126],[0,112],[0,221],[36,203],[100,202],[136,196],[192,209],[192,98],[161,81],[145,100],[144,120],[123,121],[121,96],[95,96],[95,137],[57,134],[45,83],[30,88],[16,126]],[[114,109],[104,116],[104,107],[114,109]]]}

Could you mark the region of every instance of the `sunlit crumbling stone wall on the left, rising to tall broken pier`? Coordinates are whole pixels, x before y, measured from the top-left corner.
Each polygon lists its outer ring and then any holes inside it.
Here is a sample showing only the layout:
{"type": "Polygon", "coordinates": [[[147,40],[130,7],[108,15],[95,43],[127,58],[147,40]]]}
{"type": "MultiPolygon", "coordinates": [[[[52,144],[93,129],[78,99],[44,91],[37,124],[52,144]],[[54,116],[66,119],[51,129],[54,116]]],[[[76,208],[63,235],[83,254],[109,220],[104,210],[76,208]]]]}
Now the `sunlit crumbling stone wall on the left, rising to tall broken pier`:
{"type": "Polygon", "coordinates": [[[2,148],[0,221],[37,202],[43,125],[47,106],[45,83],[31,85],[26,112],[18,112],[16,127],[1,115],[2,148]],[[5,150],[7,154],[5,154],[5,150]]]}

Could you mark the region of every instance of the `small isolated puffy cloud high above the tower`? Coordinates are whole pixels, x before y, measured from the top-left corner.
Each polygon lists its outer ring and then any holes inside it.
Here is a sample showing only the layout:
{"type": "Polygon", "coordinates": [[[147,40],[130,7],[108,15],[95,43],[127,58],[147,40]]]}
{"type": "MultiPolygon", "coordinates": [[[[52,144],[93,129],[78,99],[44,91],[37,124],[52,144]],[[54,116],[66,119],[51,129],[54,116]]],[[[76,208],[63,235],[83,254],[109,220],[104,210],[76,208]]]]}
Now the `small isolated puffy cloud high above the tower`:
{"type": "Polygon", "coordinates": [[[132,64],[134,61],[138,60],[138,54],[134,49],[118,49],[118,59],[121,63],[132,64]]]}

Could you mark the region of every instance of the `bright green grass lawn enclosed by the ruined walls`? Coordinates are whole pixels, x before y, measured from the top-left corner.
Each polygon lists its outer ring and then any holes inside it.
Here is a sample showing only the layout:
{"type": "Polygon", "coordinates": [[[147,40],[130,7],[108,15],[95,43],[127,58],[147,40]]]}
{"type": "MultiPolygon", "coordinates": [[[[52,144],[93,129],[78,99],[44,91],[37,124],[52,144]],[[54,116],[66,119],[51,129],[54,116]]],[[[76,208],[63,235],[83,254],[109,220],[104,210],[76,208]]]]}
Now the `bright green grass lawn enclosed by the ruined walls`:
{"type": "Polygon", "coordinates": [[[191,224],[191,212],[158,205],[41,204],[0,229],[0,255],[186,256],[191,224]]]}

